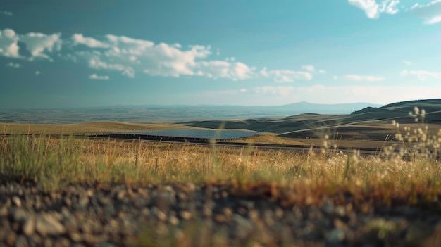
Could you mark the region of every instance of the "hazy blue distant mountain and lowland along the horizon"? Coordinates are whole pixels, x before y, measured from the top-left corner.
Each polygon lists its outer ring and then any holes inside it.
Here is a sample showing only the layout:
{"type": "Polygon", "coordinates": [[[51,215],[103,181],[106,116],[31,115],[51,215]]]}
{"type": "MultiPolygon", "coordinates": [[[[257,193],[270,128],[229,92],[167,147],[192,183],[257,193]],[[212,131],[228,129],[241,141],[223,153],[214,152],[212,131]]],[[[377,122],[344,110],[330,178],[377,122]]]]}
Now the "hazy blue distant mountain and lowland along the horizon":
{"type": "Polygon", "coordinates": [[[303,113],[349,114],[371,103],[315,104],[284,106],[108,106],[59,109],[0,109],[0,122],[73,123],[92,121],[182,122],[190,120],[231,120],[282,118],[303,113]]]}

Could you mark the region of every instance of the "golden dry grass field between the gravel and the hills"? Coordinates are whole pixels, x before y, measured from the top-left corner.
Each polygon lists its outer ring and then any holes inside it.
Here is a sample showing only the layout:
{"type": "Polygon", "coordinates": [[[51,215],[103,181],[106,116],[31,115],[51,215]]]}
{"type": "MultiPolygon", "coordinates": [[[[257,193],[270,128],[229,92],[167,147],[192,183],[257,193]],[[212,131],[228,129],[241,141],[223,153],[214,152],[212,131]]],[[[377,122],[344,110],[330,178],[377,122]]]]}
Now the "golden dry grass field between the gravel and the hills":
{"type": "MultiPolygon", "coordinates": [[[[391,153],[390,149],[383,148],[378,156],[363,158],[356,151],[349,156],[332,153],[333,145],[351,145],[348,141],[332,137],[327,140],[293,140],[262,136],[246,140],[250,144],[264,139],[285,144],[315,142],[324,144],[324,148],[331,151],[293,153],[256,150],[252,145],[242,149],[208,148],[74,137],[54,139],[49,135],[40,135],[97,130],[166,129],[181,127],[179,125],[92,122],[75,125],[2,124],[1,127],[4,133],[35,134],[1,138],[1,175],[4,179],[14,181],[34,181],[43,189],[90,182],[229,182],[243,188],[256,183],[275,183],[303,191],[299,198],[323,192],[333,194],[339,188],[345,187],[357,194],[375,191],[388,196],[394,195],[394,198],[398,196],[409,203],[414,202],[415,188],[418,188],[418,193],[423,194],[422,198],[429,201],[441,193],[439,160],[429,157],[426,150],[429,146],[432,149],[439,146],[441,133],[430,136],[428,129],[416,130],[415,135],[411,134],[413,131],[409,131],[409,137],[406,138],[414,138],[414,142],[404,144],[407,148],[402,153],[391,153]],[[410,161],[409,158],[403,158],[404,153],[412,154],[410,161]],[[426,186],[428,184],[430,186],[426,186]],[[399,194],[395,191],[399,191],[399,194]]],[[[407,128],[398,127],[397,130],[407,128]]],[[[383,143],[367,143],[365,144],[383,147],[397,144],[387,140],[383,143]]],[[[385,196],[383,200],[387,202],[392,197],[385,196]]]]}

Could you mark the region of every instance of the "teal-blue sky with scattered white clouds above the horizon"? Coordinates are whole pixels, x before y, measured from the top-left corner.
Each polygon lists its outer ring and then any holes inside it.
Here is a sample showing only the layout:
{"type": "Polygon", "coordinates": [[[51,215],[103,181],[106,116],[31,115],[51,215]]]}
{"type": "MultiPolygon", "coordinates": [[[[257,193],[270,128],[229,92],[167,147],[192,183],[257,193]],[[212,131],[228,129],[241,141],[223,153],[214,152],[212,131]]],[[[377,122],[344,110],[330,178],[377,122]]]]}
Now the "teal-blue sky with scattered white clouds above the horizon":
{"type": "Polygon", "coordinates": [[[0,0],[0,108],[441,96],[441,0],[0,0]]]}

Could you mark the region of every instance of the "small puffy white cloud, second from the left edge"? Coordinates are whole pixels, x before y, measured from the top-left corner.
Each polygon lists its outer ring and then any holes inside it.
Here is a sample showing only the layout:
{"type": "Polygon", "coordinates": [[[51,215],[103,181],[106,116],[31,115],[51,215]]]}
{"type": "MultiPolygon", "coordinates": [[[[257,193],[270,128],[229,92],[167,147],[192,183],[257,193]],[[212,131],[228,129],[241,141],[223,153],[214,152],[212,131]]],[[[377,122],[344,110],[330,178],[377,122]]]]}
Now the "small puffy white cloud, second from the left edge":
{"type": "Polygon", "coordinates": [[[62,43],[60,36],[61,33],[47,35],[39,32],[30,32],[25,35],[20,35],[20,42],[25,43],[26,49],[32,54],[30,60],[34,58],[46,58],[51,60],[44,52],[59,51],[62,43]]]}

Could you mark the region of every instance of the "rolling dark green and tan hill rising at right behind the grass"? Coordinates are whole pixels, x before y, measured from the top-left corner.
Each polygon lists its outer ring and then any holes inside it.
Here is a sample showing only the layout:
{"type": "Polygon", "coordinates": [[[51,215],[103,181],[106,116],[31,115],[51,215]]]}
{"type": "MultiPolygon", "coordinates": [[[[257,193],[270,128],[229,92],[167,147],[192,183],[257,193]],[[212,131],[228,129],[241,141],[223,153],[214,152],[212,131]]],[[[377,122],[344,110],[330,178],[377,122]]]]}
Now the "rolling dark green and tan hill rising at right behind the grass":
{"type": "MultiPolygon", "coordinates": [[[[211,120],[182,122],[184,125],[218,129],[249,129],[271,132],[280,137],[323,138],[325,134],[337,139],[370,139],[383,141],[396,129],[392,120],[400,124],[414,124],[409,116],[414,108],[426,110],[424,122],[441,124],[441,99],[405,101],[379,108],[367,107],[349,115],[300,114],[286,118],[258,118],[246,120],[211,120]]],[[[421,120],[420,120],[421,121],[421,120]]]]}

